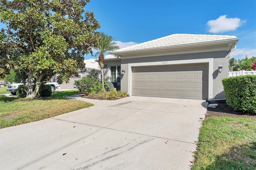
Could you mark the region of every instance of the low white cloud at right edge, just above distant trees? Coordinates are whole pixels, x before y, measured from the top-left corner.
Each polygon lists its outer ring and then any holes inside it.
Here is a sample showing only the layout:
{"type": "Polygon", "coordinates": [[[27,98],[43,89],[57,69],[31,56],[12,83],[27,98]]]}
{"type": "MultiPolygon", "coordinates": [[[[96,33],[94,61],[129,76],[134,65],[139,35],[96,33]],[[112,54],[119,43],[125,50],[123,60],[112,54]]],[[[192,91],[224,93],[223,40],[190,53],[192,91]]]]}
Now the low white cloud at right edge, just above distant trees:
{"type": "Polygon", "coordinates": [[[256,49],[237,48],[234,51],[231,51],[229,56],[230,58],[244,59],[245,55],[247,55],[248,58],[256,57],[256,49]]]}

